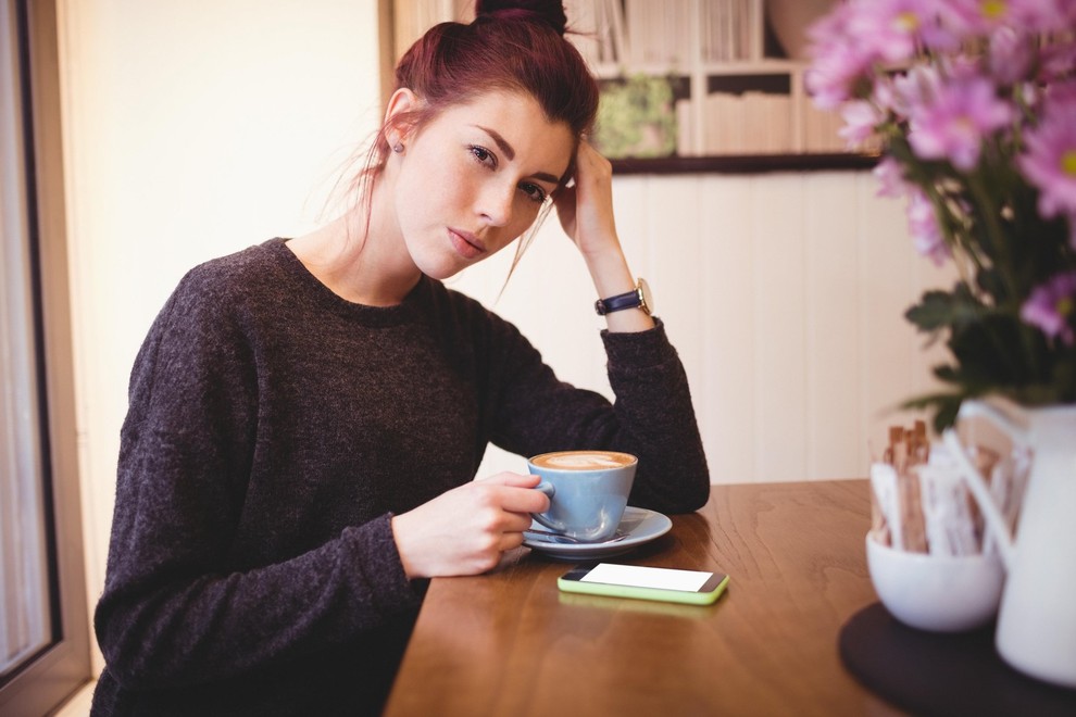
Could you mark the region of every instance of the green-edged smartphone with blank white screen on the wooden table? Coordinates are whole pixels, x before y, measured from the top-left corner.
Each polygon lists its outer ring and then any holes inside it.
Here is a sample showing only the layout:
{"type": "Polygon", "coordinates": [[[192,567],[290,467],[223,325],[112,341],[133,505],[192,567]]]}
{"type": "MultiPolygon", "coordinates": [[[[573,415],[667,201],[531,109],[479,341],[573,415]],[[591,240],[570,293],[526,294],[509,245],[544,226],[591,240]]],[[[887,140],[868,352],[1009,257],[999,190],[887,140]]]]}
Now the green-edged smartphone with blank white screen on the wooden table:
{"type": "Polygon", "coordinates": [[[725,592],[728,576],[703,570],[587,563],[556,580],[564,592],[710,605],[725,592]]]}

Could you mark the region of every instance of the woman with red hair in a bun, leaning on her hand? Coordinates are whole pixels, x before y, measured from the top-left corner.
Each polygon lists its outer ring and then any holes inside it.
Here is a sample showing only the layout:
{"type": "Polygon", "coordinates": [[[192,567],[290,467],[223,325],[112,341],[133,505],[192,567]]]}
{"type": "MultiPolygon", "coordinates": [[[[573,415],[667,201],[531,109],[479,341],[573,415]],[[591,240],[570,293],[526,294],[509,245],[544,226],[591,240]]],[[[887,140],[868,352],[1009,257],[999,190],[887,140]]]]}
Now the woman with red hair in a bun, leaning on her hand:
{"type": "Polygon", "coordinates": [[[425,580],[492,568],[548,507],[534,476],[473,480],[490,441],[633,452],[633,505],[705,502],[684,370],[646,306],[606,313],[611,405],[440,282],[553,201],[597,295],[635,287],[560,2],[478,4],[401,60],[352,211],[197,267],[150,329],[95,714],[379,710],[425,580]]]}

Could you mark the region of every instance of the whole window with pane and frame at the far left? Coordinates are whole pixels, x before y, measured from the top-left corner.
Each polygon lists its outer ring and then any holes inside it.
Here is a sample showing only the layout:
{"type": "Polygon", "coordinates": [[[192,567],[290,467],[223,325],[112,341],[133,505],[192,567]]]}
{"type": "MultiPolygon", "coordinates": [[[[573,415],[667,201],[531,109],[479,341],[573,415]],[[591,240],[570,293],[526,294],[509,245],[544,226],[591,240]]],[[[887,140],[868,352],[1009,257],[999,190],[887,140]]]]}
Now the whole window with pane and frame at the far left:
{"type": "Polygon", "coordinates": [[[0,0],[0,713],[89,679],[54,2],[0,0]]]}

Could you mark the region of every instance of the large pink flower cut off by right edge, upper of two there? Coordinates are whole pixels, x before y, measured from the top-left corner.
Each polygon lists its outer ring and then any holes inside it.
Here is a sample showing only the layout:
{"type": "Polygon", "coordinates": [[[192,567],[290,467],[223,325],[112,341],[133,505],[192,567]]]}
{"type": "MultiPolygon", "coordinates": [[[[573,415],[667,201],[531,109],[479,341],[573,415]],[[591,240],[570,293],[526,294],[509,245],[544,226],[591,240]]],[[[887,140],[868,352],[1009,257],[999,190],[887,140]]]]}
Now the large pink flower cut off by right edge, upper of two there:
{"type": "Polygon", "coordinates": [[[1076,214],[1076,92],[1072,88],[1048,95],[1042,121],[1024,136],[1027,150],[1017,166],[1039,190],[1044,217],[1076,214]]]}

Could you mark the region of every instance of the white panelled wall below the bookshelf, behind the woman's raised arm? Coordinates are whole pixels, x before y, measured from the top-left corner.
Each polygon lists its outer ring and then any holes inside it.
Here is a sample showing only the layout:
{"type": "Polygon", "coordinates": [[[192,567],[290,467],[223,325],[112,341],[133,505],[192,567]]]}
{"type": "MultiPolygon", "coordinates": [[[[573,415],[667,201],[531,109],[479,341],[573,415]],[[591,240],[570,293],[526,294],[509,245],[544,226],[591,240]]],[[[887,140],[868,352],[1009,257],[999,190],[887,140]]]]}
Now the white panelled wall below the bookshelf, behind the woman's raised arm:
{"type": "MultiPolygon", "coordinates": [[[[939,347],[904,320],[948,279],[869,172],[621,177],[617,229],[692,388],[713,482],[866,475],[939,347]]],[[[497,300],[509,256],[455,282],[497,300]]],[[[611,395],[593,290],[551,218],[496,304],[566,380],[611,395]]],[[[486,468],[518,468],[493,451],[486,468]]]]}

